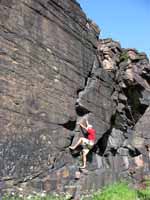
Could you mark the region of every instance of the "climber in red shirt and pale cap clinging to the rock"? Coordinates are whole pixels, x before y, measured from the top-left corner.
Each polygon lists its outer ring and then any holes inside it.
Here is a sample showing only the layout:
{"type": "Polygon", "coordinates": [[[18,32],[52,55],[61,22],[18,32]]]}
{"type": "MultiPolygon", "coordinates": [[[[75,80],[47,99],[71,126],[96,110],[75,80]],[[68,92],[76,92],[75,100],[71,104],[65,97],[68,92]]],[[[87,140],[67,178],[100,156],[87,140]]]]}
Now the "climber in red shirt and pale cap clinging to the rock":
{"type": "Polygon", "coordinates": [[[86,121],[86,126],[84,126],[82,123],[79,123],[79,125],[87,131],[88,137],[81,137],[74,146],[70,146],[69,148],[71,150],[75,150],[79,145],[82,145],[83,166],[80,167],[80,169],[84,169],[86,168],[87,154],[89,153],[90,149],[92,149],[95,143],[96,131],[92,128],[92,125],[90,125],[88,121],[86,121]]]}

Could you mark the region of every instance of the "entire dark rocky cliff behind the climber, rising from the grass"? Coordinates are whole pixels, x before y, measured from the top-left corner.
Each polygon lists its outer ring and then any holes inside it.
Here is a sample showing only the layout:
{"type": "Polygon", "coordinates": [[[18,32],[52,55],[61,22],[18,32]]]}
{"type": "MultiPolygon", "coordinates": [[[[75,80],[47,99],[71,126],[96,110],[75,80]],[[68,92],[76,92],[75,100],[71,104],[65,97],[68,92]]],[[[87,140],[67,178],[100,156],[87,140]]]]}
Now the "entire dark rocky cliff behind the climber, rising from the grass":
{"type": "Polygon", "coordinates": [[[150,64],[98,39],[75,0],[0,0],[0,187],[78,196],[149,176],[150,64]],[[88,171],[68,146],[88,119],[88,171]]]}

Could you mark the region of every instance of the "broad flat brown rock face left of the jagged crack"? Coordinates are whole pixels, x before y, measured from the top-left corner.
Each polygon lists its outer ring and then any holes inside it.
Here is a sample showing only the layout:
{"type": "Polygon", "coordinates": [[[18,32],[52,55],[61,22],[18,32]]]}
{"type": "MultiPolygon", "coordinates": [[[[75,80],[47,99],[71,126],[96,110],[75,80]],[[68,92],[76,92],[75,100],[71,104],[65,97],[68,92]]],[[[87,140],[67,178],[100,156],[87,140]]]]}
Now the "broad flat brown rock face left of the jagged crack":
{"type": "Polygon", "coordinates": [[[72,1],[1,1],[0,13],[1,176],[26,176],[70,145],[63,125],[76,121],[96,36],[72,1]]]}

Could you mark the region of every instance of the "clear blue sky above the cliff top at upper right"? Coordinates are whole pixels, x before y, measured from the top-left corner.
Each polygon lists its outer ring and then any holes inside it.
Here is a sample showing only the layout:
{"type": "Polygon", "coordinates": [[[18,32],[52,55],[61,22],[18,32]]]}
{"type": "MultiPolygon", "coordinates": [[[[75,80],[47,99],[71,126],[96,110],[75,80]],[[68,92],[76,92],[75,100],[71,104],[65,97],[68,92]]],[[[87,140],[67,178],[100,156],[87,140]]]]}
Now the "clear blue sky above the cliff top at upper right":
{"type": "Polygon", "coordinates": [[[87,17],[123,48],[136,48],[150,58],[150,0],[77,0],[87,17]]]}

